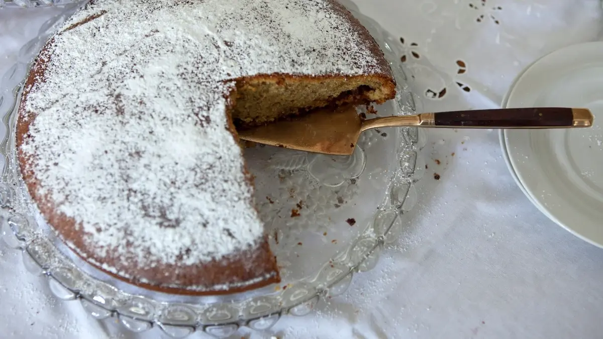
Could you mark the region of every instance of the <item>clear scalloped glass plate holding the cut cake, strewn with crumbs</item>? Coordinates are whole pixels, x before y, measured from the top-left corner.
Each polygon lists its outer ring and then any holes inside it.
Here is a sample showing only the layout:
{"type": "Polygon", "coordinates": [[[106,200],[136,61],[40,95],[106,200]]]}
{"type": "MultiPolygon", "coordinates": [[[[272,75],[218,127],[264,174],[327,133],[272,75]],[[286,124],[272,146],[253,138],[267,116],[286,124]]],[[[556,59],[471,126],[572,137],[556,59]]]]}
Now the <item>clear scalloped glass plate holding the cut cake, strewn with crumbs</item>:
{"type": "MultiPolygon", "coordinates": [[[[50,1],[51,2],[51,1],[50,1]]],[[[379,43],[398,83],[395,100],[375,107],[378,115],[408,115],[418,99],[399,62],[399,42],[377,22],[341,1],[379,43]]],[[[354,274],[376,265],[385,244],[402,233],[402,218],[425,172],[418,128],[383,128],[364,133],[352,156],[260,147],[245,150],[256,177],[256,205],[277,256],[282,282],[245,293],[189,297],[158,293],[117,280],[93,268],[49,230],[16,165],[16,107],[31,61],[43,43],[75,9],[46,22],[39,37],[20,51],[20,62],[0,79],[0,115],[7,131],[0,150],[2,241],[22,251],[25,267],[44,276],[63,300],[80,300],[93,317],[117,317],[134,332],[159,326],[171,337],[195,331],[228,337],[239,326],[265,330],[282,315],[306,315],[324,297],[346,291],[354,274]]],[[[368,118],[372,115],[368,112],[368,118]]]]}

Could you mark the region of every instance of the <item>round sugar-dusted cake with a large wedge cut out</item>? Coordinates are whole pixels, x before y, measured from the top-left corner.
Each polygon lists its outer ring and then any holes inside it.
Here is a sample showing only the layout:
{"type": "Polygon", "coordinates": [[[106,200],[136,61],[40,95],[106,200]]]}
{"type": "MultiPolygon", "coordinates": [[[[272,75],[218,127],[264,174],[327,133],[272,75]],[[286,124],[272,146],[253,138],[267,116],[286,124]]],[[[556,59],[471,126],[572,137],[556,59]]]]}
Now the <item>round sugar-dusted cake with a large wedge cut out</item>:
{"type": "Polygon", "coordinates": [[[333,0],[93,0],[43,46],[16,126],[28,192],[70,250],[166,293],[280,281],[236,128],[395,95],[333,0]]]}

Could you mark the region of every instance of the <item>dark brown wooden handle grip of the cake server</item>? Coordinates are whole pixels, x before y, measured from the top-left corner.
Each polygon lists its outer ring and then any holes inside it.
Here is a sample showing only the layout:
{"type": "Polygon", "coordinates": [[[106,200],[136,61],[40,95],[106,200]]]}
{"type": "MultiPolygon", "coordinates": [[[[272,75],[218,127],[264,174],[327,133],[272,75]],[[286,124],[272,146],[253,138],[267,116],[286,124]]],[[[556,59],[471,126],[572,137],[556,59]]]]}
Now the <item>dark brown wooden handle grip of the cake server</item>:
{"type": "Polygon", "coordinates": [[[563,127],[573,125],[570,108],[461,110],[434,113],[436,126],[449,127],[563,127]]]}

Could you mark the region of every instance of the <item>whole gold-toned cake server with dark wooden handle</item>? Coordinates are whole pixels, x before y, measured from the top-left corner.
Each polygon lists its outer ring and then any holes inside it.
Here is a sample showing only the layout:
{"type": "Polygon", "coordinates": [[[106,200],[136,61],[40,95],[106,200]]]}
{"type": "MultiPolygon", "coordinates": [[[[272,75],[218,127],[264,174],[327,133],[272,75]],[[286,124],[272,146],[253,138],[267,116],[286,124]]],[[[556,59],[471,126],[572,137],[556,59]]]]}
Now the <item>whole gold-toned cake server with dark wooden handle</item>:
{"type": "Polygon", "coordinates": [[[311,114],[239,130],[239,138],[293,150],[350,155],[360,134],[371,128],[573,128],[591,127],[588,109],[540,107],[520,109],[461,110],[362,119],[353,106],[311,114]]]}

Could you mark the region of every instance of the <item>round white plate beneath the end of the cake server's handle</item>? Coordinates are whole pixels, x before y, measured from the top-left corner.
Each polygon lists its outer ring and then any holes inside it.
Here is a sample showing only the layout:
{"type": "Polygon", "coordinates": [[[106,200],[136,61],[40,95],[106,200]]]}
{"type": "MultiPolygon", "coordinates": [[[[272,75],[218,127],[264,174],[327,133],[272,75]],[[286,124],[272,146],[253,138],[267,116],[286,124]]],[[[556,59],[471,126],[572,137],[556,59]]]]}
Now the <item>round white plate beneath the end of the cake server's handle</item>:
{"type": "Polygon", "coordinates": [[[506,106],[592,110],[592,128],[505,130],[502,145],[511,174],[535,206],[603,247],[603,42],[569,46],[538,60],[517,78],[506,106]]]}

